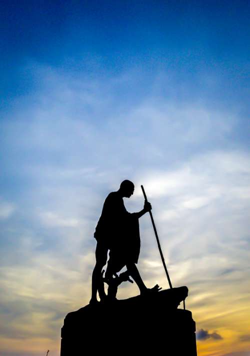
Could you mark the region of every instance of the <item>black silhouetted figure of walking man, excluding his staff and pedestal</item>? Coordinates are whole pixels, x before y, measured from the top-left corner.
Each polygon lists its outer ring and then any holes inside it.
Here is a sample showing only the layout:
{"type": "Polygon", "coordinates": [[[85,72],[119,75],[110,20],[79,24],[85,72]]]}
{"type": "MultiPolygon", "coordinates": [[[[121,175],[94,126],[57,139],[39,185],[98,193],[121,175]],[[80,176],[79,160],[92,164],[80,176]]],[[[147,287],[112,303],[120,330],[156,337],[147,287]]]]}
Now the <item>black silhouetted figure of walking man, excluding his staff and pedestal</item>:
{"type": "Polygon", "coordinates": [[[112,257],[110,259],[112,263],[109,263],[105,273],[107,281],[112,278],[113,273],[126,265],[128,274],[138,285],[141,294],[149,290],[159,290],[157,284],[151,289],[145,286],[135,265],[140,248],[138,219],[151,210],[151,204],[145,201],[142,210],[129,213],[124,206],[123,197],[129,198],[133,191],[134,184],[130,180],[123,180],[119,189],[109,193],[104,201],[94,232],[94,238],[97,241],[96,263],[92,273],[92,290],[89,303],[97,302],[97,290],[100,300],[104,300],[106,297],[101,271],[106,264],[108,250],[110,250],[109,255],[112,257]]]}

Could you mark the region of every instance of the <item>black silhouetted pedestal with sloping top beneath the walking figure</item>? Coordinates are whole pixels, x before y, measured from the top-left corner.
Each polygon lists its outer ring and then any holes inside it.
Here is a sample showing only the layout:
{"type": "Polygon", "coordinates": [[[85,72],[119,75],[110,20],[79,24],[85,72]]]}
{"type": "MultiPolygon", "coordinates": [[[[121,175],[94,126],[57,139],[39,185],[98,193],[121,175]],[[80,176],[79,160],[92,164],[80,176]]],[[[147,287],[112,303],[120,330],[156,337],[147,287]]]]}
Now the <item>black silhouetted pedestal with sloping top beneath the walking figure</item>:
{"type": "Polygon", "coordinates": [[[178,309],[187,296],[179,287],[86,305],[70,312],[61,328],[61,356],[164,352],[196,356],[195,322],[191,311],[178,309]]]}

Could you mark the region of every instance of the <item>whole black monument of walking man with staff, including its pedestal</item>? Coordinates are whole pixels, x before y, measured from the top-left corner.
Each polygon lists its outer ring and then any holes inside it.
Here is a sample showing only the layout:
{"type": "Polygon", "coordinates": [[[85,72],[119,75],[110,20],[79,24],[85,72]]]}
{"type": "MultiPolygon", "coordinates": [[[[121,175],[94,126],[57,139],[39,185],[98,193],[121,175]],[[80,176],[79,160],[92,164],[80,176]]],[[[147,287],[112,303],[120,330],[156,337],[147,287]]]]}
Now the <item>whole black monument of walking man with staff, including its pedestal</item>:
{"type": "Polygon", "coordinates": [[[145,202],[138,212],[129,213],[123,203],[123,197],[129,198],[134,191],[134,185],[129,180],[123,180],[119,189],[109,193],[104,201],[94,232],[97,244],[91,299],[89,304],[66,315],[61,328],[60,356],[83,354],[89,350],[101,353],[105,346],[111,356],[121,351],[124,354],[146,354],[155,351],[155,344],[161,352],[165,352],[167,345],[168,349],[174,349],[176,355],[197,356],[192,314],[185,307],[178,308],[187,297],[188,289],[186,286],[172,287],[151,204],[147,202],[142,185],[141,189],[145,202]],[[145,212],[151,218],[170,289],[160,290],[158,284],[147,288],[136,267],[140,252],[139,218],[145,212]],[[109,259],[104,271],[108,251],[109,259]],[[118,275],[124,266],[126,270],[118,275]],[[140,295],[117,300],[117,288],[123,281],[135,281],[140,295]],[[107,295],[104,282],[108,284],[107,295]],[[97,291],[100,302],[97,302],[97,291]],[[158,322],[159,315],[162,322],[158,322]],[[164,342],[158,346],[160,339],[164,342]]]}

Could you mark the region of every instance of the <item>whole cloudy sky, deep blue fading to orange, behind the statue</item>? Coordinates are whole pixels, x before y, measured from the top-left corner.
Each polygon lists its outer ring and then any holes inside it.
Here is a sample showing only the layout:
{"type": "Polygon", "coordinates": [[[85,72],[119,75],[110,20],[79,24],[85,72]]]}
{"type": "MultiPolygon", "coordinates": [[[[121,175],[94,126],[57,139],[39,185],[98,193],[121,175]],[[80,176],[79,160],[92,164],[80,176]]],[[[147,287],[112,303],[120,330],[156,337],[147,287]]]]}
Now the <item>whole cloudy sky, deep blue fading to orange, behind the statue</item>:
{"type": "MultiPolygon", "coordinates": [[[[59,356],[123,179],[130,212],[143,184],[171,282],[189,289],[198,355],[250,355],[249,7],[1,2],[1,356],[59,356]]],[[[148,214],[140,233],[143,280],[168,288],[148,214]]]]}

